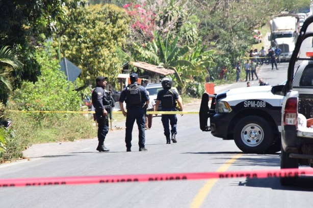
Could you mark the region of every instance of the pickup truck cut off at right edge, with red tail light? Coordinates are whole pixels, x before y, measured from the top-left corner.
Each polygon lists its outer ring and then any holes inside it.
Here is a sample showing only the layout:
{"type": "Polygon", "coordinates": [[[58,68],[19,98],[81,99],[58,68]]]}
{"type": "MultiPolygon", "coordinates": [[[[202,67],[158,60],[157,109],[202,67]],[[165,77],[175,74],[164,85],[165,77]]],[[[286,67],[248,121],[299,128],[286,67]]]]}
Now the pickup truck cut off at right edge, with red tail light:
{"type": "MultiPolygon", "coordinates": [[[[313,117],[313,16],[300,30],[288,67],[283,89],[285,100],[281,111],[280,168],[313,167],[313,128],[307,124],[313,117]]],[[[289,174],[288,174],[289,175],[289,174]]],[[[296,177],[281,177],[282,185],[295,185],[296,177]]]]}

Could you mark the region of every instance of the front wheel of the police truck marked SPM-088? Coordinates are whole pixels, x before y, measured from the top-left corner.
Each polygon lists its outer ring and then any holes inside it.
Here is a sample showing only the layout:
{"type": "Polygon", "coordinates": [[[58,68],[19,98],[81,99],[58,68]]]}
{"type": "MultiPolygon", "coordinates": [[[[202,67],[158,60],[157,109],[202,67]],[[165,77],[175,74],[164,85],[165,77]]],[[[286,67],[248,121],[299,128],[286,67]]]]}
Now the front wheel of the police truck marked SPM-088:
{"type": "Polygon", "coordinates": [[[270,124],[255,115],[242,118],[233,131],[234,142],[244,153],[264,153],[273,143],[273,137],[270,124]]]}

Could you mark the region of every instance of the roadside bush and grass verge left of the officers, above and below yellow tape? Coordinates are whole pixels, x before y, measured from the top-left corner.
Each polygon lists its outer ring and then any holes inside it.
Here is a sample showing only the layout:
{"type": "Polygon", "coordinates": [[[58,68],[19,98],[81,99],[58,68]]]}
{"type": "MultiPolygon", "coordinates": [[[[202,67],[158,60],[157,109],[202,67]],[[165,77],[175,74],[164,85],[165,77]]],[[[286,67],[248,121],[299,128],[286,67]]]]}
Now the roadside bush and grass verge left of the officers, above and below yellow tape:
{"type": "MultiPolygon", "coordinates": [[[[33,143],[73,141],[96,137],[91,116],[82,113],[44,113],[42,111],[80,111],[82,99],[74,85],[60,70],[55,50],[47,44],[37,51],[41,75],[36,83],[23,82],[9,98],[10,130],[0,129],[0,163],[22,157],[22,151],[33,143]],[[14,130],[13,130],[14,129],[14,130]],[[15,134],[14,134],[15,133],[15,134]]],[[[1,116],[0,116],[1,117],[1,116]]]]}

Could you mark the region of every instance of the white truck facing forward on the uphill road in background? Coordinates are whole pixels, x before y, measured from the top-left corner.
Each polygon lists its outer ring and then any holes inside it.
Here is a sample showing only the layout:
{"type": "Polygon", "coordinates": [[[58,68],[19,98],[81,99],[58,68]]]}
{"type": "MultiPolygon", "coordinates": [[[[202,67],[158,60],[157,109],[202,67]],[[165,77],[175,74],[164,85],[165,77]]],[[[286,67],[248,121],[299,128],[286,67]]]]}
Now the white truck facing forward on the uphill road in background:
{"type": "Polygon", "coordinates": [[[271,47],[281,49],[280,61],[290,60],[300,31],[299,16],[297,14],[285,14],[270,20],[271,47]]]}

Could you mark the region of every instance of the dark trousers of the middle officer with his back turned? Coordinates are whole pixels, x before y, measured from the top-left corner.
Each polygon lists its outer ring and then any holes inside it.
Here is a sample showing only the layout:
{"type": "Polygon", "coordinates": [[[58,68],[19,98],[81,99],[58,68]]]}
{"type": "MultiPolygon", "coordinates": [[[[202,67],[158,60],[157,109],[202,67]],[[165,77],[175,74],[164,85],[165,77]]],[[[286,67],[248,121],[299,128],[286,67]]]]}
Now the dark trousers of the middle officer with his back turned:
{"type": "Polygon", "coordinates": [[[145,118],[146,110],[143,107],[129,107],[127,108],[126,115],[126,134],[125,134],[125,143],[127,148],[132,147],[132,132],[134,123],[138,125],[139,130],[139,148],[145,147],[145,118]]]}

